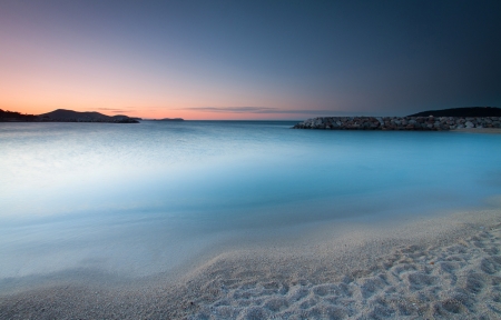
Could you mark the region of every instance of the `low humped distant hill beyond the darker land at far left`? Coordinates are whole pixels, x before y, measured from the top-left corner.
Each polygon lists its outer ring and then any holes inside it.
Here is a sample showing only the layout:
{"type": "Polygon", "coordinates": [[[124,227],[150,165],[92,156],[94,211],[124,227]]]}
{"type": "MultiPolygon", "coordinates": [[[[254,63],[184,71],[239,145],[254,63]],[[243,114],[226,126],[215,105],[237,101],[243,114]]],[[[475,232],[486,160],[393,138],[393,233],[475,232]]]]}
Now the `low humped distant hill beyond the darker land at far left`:
{"type": "Polygon", "coordinates": [[[59,122],[114,122],[114,123],[138,123],[137,118],[127,116],[109,117],[96,111],[78,112],[73,110],[57,109],[51,112],[38,116],[40,121],[59,121],[59,122]]]}

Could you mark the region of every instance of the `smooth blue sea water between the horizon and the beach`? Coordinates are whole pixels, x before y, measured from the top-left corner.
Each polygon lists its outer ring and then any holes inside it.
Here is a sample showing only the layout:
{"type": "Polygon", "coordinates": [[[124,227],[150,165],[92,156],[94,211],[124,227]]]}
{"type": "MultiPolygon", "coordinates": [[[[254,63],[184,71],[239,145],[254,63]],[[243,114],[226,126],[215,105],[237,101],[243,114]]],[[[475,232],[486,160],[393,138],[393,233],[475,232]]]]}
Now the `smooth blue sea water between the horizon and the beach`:
{"type": "Polygon", "coordinates": [[[148,276],[248,234],[501,193],[501,134],[294,123],[1,123],[0,279],[148,276]]]}

